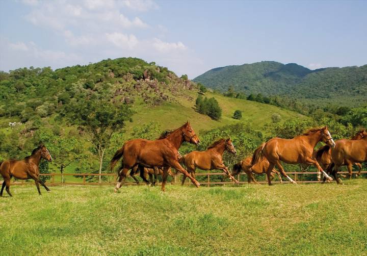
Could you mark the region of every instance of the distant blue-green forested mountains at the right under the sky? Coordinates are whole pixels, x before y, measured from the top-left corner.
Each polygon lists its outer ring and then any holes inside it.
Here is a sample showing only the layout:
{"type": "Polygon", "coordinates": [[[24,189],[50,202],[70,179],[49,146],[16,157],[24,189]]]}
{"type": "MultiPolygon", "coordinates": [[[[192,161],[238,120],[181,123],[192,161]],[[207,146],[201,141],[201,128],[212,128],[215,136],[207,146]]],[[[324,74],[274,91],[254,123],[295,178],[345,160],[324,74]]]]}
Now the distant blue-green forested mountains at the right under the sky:
{"type": "Polygon", "coordinates": [[[329,99],[350,102],[367,99],[367,65],[310,70],[295,63],[262,61],[211,69],[195,78],[206,87],[245,94],[287,95],[293,98],[329,99]]]}

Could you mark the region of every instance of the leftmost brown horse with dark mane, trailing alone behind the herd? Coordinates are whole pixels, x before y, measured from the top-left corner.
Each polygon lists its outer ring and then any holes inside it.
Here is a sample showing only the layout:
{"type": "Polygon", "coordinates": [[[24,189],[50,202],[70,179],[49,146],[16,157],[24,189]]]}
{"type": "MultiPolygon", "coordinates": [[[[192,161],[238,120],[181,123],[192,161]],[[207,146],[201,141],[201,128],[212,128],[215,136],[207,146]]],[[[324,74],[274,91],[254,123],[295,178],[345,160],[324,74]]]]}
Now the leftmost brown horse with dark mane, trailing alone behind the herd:
{"type": "Polygon", "coordinates": [[[46,185],[39,179],[39,163],[41,158],[46,159],[51,162],[52,157],[48,152],[47,148],[40,144],[39,147],[33,149],[31,156],[24,158],[23,160],[6,160],[0,163],[0,174],[4,178],[3,186],[0,191],[0,196],[3,196],[4,187],[6,187],[6,191],[9,196],[12,196],[10,193],[10,179],[11,177],[16,177],[18,180],[28,180],[32,178],[38,189],[38,193],[41,195],[41,191],[39,188],[39,183],[47,190],[50,191],[46,185]]]}

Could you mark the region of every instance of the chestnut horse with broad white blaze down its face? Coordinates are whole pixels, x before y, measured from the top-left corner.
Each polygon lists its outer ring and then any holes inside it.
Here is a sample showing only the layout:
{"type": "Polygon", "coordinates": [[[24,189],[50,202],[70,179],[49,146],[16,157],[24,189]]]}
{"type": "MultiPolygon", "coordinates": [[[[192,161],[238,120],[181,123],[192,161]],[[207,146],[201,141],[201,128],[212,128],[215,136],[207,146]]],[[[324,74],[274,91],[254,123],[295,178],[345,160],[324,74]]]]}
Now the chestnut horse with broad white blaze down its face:
{"type": "Polygon", "coordinates": [[[293,184],[297,184],[292,178],[286,175],[280,161],[287,164],[308,164],[316,166],[320,172],[324,174],[329,180],[332,178],[320,167],[319,163],[312,158],[313,149],[320,141],[334,147],[335,142],[332,139],[327,126],[317,129],[310,129],[300,136],[293,139],[273,138],[266,143],[261,144],[252,156],[251,166],[255,165],[260,156],[264,155],[269,161],[269,168],[267,170],[268,184],[271,184],[270,173],[276,165],[281,174],[286,177],[293,184]]]}

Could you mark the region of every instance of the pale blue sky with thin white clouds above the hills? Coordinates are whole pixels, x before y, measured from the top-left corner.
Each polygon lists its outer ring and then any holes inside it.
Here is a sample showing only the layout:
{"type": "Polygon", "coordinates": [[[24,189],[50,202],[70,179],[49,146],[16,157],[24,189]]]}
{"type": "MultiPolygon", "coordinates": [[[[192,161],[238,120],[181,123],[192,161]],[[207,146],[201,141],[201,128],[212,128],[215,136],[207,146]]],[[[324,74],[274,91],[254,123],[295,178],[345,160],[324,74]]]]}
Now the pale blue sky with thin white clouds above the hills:
{"type": "Polygon", "coordinates": [[[259,61],[367,64],[367,1],[0,0],[0,70],[137,57],[190,79],[259,61]]]}

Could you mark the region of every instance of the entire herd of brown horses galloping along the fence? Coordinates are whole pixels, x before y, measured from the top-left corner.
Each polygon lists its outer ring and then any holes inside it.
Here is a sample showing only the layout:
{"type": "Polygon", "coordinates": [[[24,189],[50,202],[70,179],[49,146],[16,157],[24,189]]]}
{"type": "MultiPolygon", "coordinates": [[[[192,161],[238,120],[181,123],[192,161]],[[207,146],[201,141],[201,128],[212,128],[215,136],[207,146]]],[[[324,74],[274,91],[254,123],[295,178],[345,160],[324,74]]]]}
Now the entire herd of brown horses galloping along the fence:
{"type": "MultiPolygon", "coordinates": [[[[338,169],[340,166],[346,165],[349,171],[349,177],[352,176],[352,165],[356,164],[361,172],[361,164],[367,162],[367,132],[359,131],[351,140],[342,139],[334,142],[328,127],[310,129],[300,136],[293,139],[273,138],[261,144],[255,149],[252,157],[247,157],[232,168],[232,173],[223,163],[223,154],[225,151],[237,154],[230,138],[220,139],[207,147],[205,151],[192,151],[185,156],[181,156],[178,152],[183,142],[189,142],[195,145],[200,143],[198,136],[195,134],[189,122],[170,132],[164,132],[156,140],[133,139],[125,142],[125,144],[116,151],[109,168],[113,170],[116,164],[122,159],[121,167],[118,168],[118,180],[115,187],[117,193],[120,186],[125,182],[126,175],[134,178],[140,173],[140,177],[146,184],[155,184],[158,175],[162,175],[162,191],[165,191],[165,185],[168,175],[172,177],[174,174],[171,168],[183,174],[182,185],[188,177],[191,182],[199,187],[200,184],[196,180],[196,168],[202,170],[223,170],[234,184],[239,182],[233,177],[236,174],[245,172],[248,182],[258,184],[253,174],[267,174],[268,184],[272,185],[274,173],[278,175],[280,182],[282,178],[280,174],[287,178],[291,183],[296,184],[290,176],[288,176],[281,162],[287,164],[306,164],[313,165],[318,172],[323,173],[324,180],[332,181],[332,175],[337,184],[342,183],[338,177],[338,169]],[[326,145],[319,150],[314,151],[314,147],[319,142],[326,145]],[[183,168],[182,166],[185,166],[183,168]],[[279,171],[274,169],[277,166],[279,171]],[[326,171],[325,171],[326,170],[326,171]],[[147,177],[149,176],[149,181],[147,177]],[[153,181],[154,176],[154,181],[153,181]]],[[[0,196],[6,188],[9,196],[12,196],[9,190],[11,177],[19,180],[33,179],[41,195],[39,184],[47,191],[47,186],[39,179],[39,163],[41,159],[52,161],[52,157],[47,148],[40,144],[32,151],[32,155],[23,160],[6,160],[0,162],[0,174],[4,178],[0,196]]]]}

